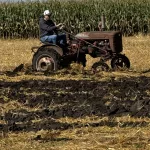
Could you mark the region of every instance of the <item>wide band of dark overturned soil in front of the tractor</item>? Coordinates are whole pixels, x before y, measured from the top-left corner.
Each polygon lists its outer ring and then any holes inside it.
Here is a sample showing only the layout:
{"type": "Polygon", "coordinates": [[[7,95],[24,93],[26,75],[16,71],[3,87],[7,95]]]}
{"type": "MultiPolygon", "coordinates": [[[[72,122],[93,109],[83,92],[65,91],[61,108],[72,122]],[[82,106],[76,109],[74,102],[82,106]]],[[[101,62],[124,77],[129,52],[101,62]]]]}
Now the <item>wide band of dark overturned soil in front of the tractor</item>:
{"type": "Polygon", "coordinates": [[[37,131],[74,126],[56,122],[63,117],[150,117],[150,78],[0,81],[0,105],[10,102],[21,107],[0,114],[5,121],[0,130],[7,127],[9,131],[37,131]]]}

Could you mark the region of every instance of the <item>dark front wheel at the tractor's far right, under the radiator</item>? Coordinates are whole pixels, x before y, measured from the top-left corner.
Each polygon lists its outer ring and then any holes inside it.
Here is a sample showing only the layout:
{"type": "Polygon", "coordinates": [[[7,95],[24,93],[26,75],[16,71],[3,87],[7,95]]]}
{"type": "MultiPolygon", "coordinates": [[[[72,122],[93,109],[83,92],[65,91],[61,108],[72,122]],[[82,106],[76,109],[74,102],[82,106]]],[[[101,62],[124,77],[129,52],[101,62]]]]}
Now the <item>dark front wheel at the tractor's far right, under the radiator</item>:
{"type": "Polygon", "coordinates": [[[111,60],[111,67],[114,70],[129,69],[130,61],[125,55],[119,54],[111,60]]]}

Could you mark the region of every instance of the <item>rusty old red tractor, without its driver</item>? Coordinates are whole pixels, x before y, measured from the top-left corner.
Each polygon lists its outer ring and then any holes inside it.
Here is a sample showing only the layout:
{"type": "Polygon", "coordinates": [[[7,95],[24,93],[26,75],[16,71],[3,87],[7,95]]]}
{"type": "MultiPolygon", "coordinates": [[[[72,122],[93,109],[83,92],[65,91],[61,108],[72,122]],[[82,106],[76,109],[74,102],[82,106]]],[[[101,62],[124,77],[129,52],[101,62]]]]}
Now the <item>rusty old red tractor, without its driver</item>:
{"type": "Polygon", "coordinates": [[[104,63],[107,60],[111,60],[113,69],[130,68],[129,59],[121,54],[123,46],[120,31],[82,32],[74,37],[68,37],[67,53],[65,54],[59,46],[59,41],[58,45],[43,43],[40,47],[32,47],[34,52],[33,69],[41,72],[56,71],[68,66],[73,61],[81,63],[85,67],[87,54],[93,58],[101,58],[99,62],[93,64],[94,71],[97,71],[99,67],[108,69],[108,65],[104,63]]]}

